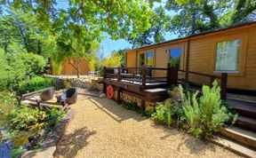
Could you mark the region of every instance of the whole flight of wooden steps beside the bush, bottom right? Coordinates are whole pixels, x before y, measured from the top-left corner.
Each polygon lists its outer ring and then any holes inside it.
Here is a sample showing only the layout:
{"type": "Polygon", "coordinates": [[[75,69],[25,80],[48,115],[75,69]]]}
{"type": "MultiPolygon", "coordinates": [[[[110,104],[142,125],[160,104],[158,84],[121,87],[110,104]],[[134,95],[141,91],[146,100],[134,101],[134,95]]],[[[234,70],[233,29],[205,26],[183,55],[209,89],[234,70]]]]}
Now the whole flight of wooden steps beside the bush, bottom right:
{"type": "Polygon", "coordinates": [[[234,107],[239,114],[234,126],[220,131],[220,136],[211,141],[225,146],[236,154],[256,157],[256,102],[227,99],[229,107],[234,107]]]}

